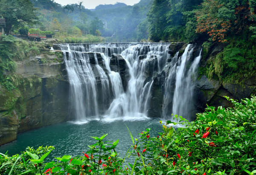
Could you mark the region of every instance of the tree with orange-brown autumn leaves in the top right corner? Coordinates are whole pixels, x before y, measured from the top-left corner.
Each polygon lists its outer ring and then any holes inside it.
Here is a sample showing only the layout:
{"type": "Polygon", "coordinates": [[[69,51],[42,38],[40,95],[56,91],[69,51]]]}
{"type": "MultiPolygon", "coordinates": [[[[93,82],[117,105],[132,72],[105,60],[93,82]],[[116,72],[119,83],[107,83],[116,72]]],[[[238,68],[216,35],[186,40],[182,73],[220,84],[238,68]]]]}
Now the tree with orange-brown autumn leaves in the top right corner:
{"type": "Polygon", "coordinates": [[[204,0],[196,11],[196,32],[206,32],[212,41],[227,42],[227,34],[235,35],[253,25],[255,7],[255,0],[204,0]]]}

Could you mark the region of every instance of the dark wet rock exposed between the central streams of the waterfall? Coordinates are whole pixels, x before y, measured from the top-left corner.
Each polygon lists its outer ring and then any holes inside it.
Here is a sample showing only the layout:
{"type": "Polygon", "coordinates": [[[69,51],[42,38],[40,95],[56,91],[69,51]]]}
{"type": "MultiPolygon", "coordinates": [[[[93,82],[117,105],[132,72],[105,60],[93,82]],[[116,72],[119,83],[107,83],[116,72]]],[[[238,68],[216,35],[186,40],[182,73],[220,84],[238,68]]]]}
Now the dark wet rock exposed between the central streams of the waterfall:
{"type": "Polygon", "coordinates": [[[126,91],[128,81],[130,79],[130,73],[125,59],[120,54],[112,54],[110,59],[110,68],[112,71],[119,72],[122,79],[123,89],[126,91]]]}

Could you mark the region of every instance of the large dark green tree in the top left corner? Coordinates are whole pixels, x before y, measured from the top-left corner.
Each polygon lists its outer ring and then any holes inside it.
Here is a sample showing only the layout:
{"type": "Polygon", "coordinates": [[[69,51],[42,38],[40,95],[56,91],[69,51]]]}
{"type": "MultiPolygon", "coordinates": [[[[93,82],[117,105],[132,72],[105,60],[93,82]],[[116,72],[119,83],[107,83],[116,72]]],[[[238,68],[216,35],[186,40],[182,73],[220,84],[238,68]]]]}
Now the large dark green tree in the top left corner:
{"type": "Polygon", "coordinates": [[[0,0],[0,16],[6,19],[7,33],[11,33],[12,27],[36,24],[35,12],[36,8],[29,0],[0,0]]]}

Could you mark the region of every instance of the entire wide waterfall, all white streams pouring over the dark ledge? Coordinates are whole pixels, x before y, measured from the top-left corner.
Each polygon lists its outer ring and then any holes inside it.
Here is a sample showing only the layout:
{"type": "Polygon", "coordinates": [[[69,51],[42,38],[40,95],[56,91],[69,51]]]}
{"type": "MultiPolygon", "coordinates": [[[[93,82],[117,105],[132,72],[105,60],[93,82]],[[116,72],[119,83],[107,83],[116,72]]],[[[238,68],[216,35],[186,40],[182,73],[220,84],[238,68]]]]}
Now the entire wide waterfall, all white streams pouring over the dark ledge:
{"type": "MultiPolygon", "coordinates": [[[[153,76],[166,65],[170,56],[169,44],[58,45],[64,52],[70,82],[71,108],[74,109],[76,119],[81,121],[91,116],[101,117],[106,121],[145,119],[151,99],[153,76]],[[121,65],[123,70],[120,70],[121,65]]],[[[192,94],[193,86],[190,77],[196,73],[200,61],[200,57],[196,58],[189,71],[186,71],[192,51],[192,45],[188,45],[180,59],[177,53],[169,63],[171,66],[166,78],[164,115],[167,114],[167,108],[180,115],[180,107],[186,107],[183,99],[189,102],[192,98],[189,95],[192,94]],[[191,90],[183,90],[184,87],[191,90]]]]}

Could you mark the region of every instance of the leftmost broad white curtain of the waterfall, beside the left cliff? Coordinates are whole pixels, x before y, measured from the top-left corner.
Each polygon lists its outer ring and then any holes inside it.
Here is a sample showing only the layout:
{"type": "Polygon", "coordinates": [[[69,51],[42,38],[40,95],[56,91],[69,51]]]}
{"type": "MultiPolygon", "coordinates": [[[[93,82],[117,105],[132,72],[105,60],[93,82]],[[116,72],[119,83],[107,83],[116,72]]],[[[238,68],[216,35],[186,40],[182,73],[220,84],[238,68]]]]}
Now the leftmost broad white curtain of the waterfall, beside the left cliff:
{"type": "Polygon", "coordinates": [[[77,120],[84,116],[97,116],[96,79],[85,52],[71,51],[69,45],[61,45],[64,52],[70,82],[70,101],[77,120]],[[68,53],[68,56],[67,54],[68,53]]]}

